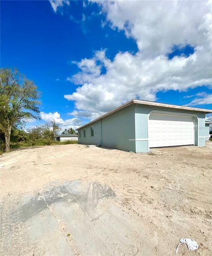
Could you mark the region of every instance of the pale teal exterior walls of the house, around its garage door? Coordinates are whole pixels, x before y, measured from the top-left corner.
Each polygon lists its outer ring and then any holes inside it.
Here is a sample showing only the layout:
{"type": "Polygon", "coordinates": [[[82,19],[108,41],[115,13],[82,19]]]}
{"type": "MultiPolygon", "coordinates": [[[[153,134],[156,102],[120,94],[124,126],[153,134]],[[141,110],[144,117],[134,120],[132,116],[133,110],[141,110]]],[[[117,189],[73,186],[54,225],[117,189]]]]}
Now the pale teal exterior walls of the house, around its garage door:
{"type": "Polygon", "coordinates": [[[136,153],[148,152],[148,118],[151,112],[194,116],[195,146],[203,147],[205,145],[206,127],[204,113],[140,105],[132,105],[79,129],[78,143],[88,145],[101,144],[102,147],[136,153]],[[93,137],[91,137],[90,132],[91,126],[94,128],[93,137]],[[86,131],[85,138],[83,137],[83,129],[86,131]],[[79,136],[79,131],[81,132],[81,137],[79,136]]]}

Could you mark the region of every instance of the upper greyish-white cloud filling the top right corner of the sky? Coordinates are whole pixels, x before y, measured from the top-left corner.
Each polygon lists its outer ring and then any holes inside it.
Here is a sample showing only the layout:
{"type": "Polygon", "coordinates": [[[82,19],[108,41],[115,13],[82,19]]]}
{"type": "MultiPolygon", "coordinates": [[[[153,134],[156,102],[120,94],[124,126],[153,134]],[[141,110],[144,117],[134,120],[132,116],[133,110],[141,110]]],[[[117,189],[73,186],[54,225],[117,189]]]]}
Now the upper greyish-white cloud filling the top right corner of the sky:
{"type": "Polygon", "coordinates": [[[166,54],[173,44],[207,45],[211,1],[96,1],[112,28],[136,39],[145,56],[166,54]]]}

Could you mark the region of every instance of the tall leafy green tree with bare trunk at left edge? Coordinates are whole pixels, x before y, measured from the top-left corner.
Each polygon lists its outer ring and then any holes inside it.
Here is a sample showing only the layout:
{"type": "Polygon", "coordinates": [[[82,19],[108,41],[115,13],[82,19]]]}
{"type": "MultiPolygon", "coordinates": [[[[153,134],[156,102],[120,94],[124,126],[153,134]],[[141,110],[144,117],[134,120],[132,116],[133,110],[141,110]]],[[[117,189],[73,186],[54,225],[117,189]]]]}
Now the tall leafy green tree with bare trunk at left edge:
{"type": "Polygon", "coordinates": [[[0,130],[5,136],[6,152],[10,150],[11,128],[30,118],[39,119],[39,96],[34,81],[19,70],[0,70],[0,130]]]}

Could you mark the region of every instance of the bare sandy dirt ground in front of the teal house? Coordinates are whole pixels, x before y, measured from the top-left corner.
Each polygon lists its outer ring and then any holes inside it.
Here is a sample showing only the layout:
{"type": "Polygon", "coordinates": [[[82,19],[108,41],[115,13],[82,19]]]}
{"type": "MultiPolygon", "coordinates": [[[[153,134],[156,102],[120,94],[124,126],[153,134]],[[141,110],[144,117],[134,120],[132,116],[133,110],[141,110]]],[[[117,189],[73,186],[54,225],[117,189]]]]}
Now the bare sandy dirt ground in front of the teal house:
{"type": "Polygon", "coordinates": [[[212,255],[212,142],[135,154],[84,145],[1,156],[1,255],[212,255]]]}

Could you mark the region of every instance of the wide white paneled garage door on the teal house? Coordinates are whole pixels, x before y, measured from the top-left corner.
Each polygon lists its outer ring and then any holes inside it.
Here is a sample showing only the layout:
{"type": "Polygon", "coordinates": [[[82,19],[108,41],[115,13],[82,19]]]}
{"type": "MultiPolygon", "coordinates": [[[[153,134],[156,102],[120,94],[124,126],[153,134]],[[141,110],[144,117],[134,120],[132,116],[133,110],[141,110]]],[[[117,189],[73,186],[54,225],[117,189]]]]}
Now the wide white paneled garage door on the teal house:
{"type": "Polygon", "coordinates": [[[192,116],[150,114],[148,121],[149,147],[194,144],[192,116]]]}

